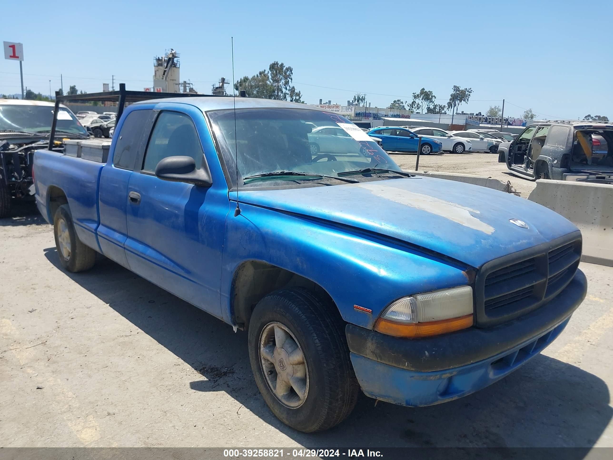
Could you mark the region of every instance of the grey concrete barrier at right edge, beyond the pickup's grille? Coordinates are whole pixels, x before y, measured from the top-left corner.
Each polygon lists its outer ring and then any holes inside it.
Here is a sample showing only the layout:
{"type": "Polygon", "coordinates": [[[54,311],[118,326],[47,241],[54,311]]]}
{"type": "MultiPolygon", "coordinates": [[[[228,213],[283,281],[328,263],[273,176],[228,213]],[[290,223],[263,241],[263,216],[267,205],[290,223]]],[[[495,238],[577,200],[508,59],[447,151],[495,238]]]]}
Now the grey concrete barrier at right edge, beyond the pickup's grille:
{"type": "Polygon", "coordinates": [[[583,234],[581,260],[613,267],[613,186],[568,180],[537,180],[530,201],[574,223],[583,234]]]}

